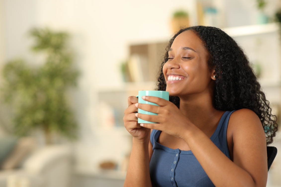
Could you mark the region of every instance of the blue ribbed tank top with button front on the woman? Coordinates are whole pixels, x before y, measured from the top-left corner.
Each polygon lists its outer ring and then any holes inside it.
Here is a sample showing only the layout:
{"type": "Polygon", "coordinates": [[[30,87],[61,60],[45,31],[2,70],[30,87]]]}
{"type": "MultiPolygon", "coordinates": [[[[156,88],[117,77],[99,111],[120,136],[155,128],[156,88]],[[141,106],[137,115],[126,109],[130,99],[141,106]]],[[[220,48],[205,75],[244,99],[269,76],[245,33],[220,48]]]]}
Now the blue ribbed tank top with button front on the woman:
{"type": "MultiPolygon", "coordinates": [[[[226,130],[230,115],[226,111],[221,117],[213,135],[212,142],[230,159],[226,130]]],[[[150,177],[158,187],[210,187],[214,186],[192,151],[171,149],[157,142],[161,131],[152,130],[150,141],[153,154],[149,163],[150,177]]]]}

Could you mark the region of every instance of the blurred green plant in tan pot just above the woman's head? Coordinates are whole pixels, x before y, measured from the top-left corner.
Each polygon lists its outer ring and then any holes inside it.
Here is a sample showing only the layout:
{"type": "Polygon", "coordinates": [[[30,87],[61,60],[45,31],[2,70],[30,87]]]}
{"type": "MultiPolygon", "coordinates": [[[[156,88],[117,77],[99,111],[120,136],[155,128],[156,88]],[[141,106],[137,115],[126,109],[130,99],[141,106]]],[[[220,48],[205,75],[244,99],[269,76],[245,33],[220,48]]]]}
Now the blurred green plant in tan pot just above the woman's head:
{"type": "Polygon", "coordinates": [[[180,29],[189,27],[189,17],[186,11],[176,11],[171,20],[173,33],[178,32],[180,29]]]}

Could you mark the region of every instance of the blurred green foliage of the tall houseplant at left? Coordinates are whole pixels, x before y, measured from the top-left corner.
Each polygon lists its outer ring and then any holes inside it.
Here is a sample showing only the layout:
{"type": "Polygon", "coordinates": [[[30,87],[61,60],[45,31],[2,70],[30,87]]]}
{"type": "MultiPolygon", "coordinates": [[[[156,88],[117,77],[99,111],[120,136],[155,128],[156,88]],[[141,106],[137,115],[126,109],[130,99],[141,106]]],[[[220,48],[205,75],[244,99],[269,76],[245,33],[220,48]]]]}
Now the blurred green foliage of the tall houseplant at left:
{"type": "Polygon", "coordinates": [[[72,66],[69,37],[49,29],[32,29],[30,34],[35,40],[32,50],[46,56],[44,65],[33,67],[13,60],[3,68],[2,95],[14,110],[15,134],[24,136],[41,128],[47,143],[53,132],[76,138],[78,126],[67,105],[66,91],[76,86],[79,73],[72,66]]]}

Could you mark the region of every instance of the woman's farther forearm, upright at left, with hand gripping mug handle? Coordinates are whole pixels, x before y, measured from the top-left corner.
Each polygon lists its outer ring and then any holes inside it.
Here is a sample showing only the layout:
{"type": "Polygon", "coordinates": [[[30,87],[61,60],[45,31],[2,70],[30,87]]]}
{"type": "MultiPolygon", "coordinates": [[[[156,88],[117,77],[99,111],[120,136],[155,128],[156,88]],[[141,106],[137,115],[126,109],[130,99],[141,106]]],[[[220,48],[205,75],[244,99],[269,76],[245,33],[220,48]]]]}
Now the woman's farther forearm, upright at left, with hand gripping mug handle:
{"type": "Polygon", "coordinates": [[[152,145],[149,141],[150,129],[141,127],[137,123],[135,112],[137,108],[134,103],[138,99],[134,96],[128,98],[129,107],[125,110],[124,125],[133,136],[133,147],[124,182],[124,187],[152,187],[149,173],[149,160],[152,155],[152,145]]]}

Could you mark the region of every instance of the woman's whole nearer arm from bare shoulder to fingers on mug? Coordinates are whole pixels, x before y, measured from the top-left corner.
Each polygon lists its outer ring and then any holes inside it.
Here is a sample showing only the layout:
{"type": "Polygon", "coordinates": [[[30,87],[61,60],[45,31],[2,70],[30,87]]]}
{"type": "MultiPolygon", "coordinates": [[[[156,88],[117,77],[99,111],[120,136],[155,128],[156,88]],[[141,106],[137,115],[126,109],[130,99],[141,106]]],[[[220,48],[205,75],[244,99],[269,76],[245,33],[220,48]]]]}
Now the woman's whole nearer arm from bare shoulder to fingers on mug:
{"type": "Polygon", "coordinates": [[[234,145],[232,162],[173,103],[156,97],[143,99],[160,107],[138,103],[138,108],[158,114],[138,114],[141,119],[158,122],[141,125],[185,140],[215,186],[266,186],[266,137],[259,117],[253,111],[241,109],[230,117],[234,145]]]}

